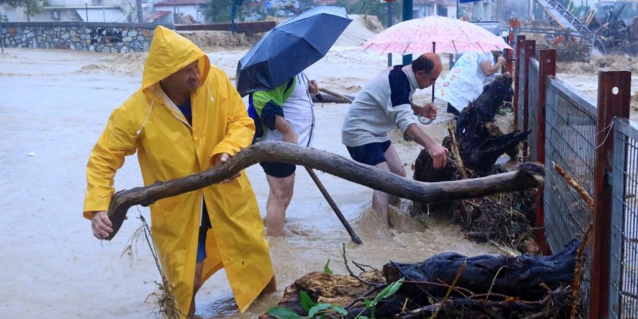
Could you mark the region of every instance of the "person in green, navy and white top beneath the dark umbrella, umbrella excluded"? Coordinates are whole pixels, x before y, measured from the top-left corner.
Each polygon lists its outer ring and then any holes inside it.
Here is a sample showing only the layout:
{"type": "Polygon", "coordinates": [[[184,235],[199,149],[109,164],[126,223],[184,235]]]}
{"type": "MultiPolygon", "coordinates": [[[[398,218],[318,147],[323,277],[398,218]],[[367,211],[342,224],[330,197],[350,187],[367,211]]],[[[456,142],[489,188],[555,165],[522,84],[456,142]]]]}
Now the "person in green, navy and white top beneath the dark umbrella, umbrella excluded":
{"type": "MultiPolygon", "coordinates": [[[[318,94],[319,86],[308,81],[303,72],[271,91],[257,91],[250,96],[250,104],[261,120],[257,142],[276,140],[309,147],[313,138],[315,116],[310,94],[318,94]]],[[[257,123],[259,125],[259,123],[257,123]]],[[[266,203],[266,235],[284,235],[286,208],[291,201],[295,183],[295,164],[259,163],[270,191],[266,203]]]]}

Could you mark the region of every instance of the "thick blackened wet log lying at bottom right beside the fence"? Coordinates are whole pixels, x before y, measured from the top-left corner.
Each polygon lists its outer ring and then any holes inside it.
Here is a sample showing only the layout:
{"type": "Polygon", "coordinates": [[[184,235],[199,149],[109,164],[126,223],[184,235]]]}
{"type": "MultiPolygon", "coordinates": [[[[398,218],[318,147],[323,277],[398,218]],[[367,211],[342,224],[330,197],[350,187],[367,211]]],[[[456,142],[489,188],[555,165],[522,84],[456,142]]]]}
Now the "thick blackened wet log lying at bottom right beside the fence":
{"type": "MultiPolygon", "coordinates": [[[[440,282],[452,284],[461,265],[465,269],[457,286],[474,293],[491,293],[494,296],[517,296],[523,300],[540,300],[547,289],[569,286],[576,269],[578,240],[572,240],[565,250],[551,256],[535,257],[522,254],[518,257],[504,257],[483,254],[466,257],[456,252],[437,254],[416,264],[389,263],[384,265],[387,282],[401,277],[412,282],[440,282]]],[[[401,294],[408,298],[423,295],[440,297],[447,291],[444,286],[430,284],[404,284],[401,294]]],[[[459,296],[459,295],[457,295],[459,296]]]]}

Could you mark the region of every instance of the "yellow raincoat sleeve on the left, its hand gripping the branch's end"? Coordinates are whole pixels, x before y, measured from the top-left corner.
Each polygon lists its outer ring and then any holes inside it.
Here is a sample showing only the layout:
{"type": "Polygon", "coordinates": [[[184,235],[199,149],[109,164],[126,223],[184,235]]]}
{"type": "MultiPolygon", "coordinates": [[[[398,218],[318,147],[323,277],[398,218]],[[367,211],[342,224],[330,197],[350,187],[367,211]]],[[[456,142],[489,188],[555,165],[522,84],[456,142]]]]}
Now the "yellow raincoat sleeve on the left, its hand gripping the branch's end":
{"type": "Polygon", "coordinates": [[[131,118],[122,108],[116,108],[86,164],[84,218],[91,218],[91,211],[108,211],[115,192],[113,179],[116,171],[124,164],[124,157],[133,155],[136,148],[137,133],[131,118]]]}

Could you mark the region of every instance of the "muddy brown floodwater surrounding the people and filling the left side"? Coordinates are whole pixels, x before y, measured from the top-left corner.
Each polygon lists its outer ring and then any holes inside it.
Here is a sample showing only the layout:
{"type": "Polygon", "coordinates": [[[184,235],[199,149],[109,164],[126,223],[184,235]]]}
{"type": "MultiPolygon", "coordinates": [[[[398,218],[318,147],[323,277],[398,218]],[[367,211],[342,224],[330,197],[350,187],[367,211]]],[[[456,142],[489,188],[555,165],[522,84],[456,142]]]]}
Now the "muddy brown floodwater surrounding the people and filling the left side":
{"type": "MultiPolygon", "coordinates": [[[[0,55],[0,317],[2,318],[155,318],[159,273],[146,242],[130,236],[148,217],[147,208],[131,208],[129,218],[110,242],[91,235],[82,218],[89,152],[108,116],[141,82],[145,55],[104,55],[64,50],[5,50],[0,55]]],[[[211,62],[234,80],[245,50],[207,51],[211,62]]],[[[396,61],[395,61],[396,62],[396,61]]],[[[386,67],[386,56],[334,47],[307,70],[328,89],[355,94],[386,67]]],[[[595,74],[592,75],[595,79],[595,74]]],[[[591,80],[591,79],[590,79],[591,80]]],[[[589,80],[588,80],[589,81],[589,80]]],[[[429,89],[415,101],[429,101],[429,89]]],[[[424,126],[435,140],[444,136],[450,116],[424,126]]],[[[349,158],[340,127],[346,104],[315,105],[313,147],[349,158]]],[[[420,147],[393,137],[408,175],[420,147]]],[[[268,194],[258,165],[247,169],[262,216],[268,194]]],[[[197,296],[201,318],[254,318],[281,298],[284,287],[308,272],[330,268],[346,274],[340,248],[350,260],[380,269],[389,261],[419,262],[440,252],[476,255],[498,251],[465,240],[449,221],[407,217],[410,203],[392,208],[396,228],[370,211],[372,191],[318,172],[347,220],[362,238],[355,245],[304,169],[297,169],[286,235],[268,238],[277,278],[276,293],[262,296],[238,313],[224,272],[204,284],[197,296]]],[[[142,185],[135,156],[118,171],[116,189],[142,185]]],[[[214,227],[214,225],[213,225],[214,227]]]]}

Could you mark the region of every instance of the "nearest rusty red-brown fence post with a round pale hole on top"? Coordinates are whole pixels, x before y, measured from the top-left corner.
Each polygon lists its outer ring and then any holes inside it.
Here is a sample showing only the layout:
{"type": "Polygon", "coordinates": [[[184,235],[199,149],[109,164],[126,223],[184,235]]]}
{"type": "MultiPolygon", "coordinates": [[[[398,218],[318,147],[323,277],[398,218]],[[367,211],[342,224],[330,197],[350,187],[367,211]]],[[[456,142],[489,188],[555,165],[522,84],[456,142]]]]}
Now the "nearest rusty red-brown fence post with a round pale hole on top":
{"type": "Polygon", "coordinates": [[[632,72],[598,73],[598,123],[594,170],[593,242],[591,261],[590,318],[608,318],[610,284],[610,240],[612,186],[607,179],[612,171],[614,144],[613,118],[629,118],[632,72]]]}

